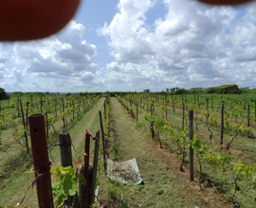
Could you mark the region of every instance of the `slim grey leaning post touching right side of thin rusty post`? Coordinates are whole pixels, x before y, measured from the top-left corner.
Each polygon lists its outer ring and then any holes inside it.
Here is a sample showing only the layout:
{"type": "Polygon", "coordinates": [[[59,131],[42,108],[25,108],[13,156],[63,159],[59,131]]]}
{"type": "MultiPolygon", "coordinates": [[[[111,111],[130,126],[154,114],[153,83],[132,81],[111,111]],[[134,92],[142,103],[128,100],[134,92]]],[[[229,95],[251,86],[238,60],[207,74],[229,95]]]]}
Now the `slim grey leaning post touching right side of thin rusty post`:
{"type": "Polygon", "coordinates": [[[100,130],[96,133],[97,139],[95,140],[94,147],[94,157],[93,157],[93,168],[92,168],[92,179],[91,179],[91,190],[90,190],[90,199],[89,205],[92,205],[95,200],[95,189],[96,189],[96,180],[97,180],[97,166],[98,166],[98,157],[99,157],[99,145],[100,145],[100,130]]]}

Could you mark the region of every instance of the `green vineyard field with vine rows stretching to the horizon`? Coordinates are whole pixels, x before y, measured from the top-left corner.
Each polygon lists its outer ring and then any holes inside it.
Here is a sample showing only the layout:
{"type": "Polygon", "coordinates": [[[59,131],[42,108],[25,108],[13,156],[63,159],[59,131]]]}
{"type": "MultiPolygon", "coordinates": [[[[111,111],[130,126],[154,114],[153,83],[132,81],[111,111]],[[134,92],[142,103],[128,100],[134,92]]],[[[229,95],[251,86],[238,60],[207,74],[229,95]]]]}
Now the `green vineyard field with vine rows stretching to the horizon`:
{"type": "MultiPolygon", "coordinates": [[[[116,97],[111,100],[110,134],[105,132],[109,139],[106,150],[109,157],[117,161],[136,155],[145,184],[133,187],[110,182],[101,161],[99,203],[103,207],[144,207],[145,204],[145,207],[166,207],[171,202],[174,207],[232,207],[233,201],[238,201],[241,207],[255,207],[255,90],[243,90],[240,95],[206,94],[204,91],[183,95],[112,95],[116,97]],[[120,110],[117,98],[126,110],[120,110]],[[222,101],[224,129],[223,144],[220,144],[222,101]],[[189,110],[193,111],[193,143],[189,141],[189,110]],[[194,150],[194,182],[189,182],[190,144],[194,150]],[[191,200],[184,200],[186,196],[191,200]]],[[[103,111],[105,97],[22,95],[20,98],[25,112],[28,106],[28,114],[48,114],[48,144],[55,143],[60,131],[68,130],[76,141],[75,147],[82,149],[85,128],[88,126],[93,131],[100,128],[98,112],[103,111]]],[[[27,153],[21,107],[17,104],[17,95],[1,101],[0,207],[14,205],[22,199],[33,178],[33,174],[23,175],[33,161],[29,134],[27,153]],[[22,188],[15,192],[20,183],[22,188]]],[[[108,131],[107,123],[104,130],[108,131]]],[[[49,153],[56,161],[53,166],[59,166],[59,149],[54,148],[49,153]]],[[[29,193],[24,205],[36,207],[35,190],[29,193]]]]}

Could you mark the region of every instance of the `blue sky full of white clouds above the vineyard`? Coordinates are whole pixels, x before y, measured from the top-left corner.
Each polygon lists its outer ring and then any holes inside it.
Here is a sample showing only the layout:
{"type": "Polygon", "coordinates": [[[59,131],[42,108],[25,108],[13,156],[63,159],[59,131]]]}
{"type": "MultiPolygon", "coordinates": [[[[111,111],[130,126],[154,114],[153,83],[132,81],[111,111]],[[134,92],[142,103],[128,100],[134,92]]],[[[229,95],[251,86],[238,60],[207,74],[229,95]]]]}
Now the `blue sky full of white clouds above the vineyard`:
{"type": "Polygon", "coordinates": [[[82,0],[64,29],[0,43],[6,92],[152,92],[256,86],[256,2],[82,0]]]}

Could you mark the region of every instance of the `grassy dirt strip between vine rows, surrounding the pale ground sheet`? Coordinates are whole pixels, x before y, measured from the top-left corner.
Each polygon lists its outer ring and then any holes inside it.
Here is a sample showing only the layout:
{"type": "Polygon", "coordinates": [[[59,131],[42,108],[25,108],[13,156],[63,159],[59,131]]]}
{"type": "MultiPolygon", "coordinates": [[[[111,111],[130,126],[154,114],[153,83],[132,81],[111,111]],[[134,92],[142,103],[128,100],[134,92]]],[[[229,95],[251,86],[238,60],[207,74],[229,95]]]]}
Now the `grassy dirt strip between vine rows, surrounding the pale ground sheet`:
{"type": "Polygon", "coordinates": [[[145,132],[137,130],[136,120],[117,98],[111,98],[111,121],[111,145],[118,147],[119,155],[110,154],[110,158],[126,161],[135,157],[143,183],[115,186],[101,171],[101,207],[232,207],[210,182],[203,184],[203,191],[197,182],[190,182],[188,165],[181,172],[179,159],[167,148],[159,148],[145,132]],[[113,190],[117,195],[113,196],[113,190]]]}

